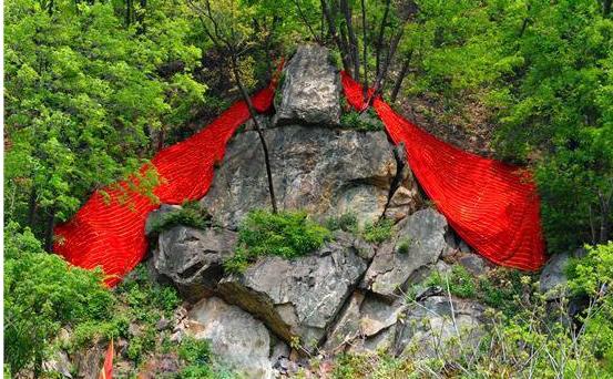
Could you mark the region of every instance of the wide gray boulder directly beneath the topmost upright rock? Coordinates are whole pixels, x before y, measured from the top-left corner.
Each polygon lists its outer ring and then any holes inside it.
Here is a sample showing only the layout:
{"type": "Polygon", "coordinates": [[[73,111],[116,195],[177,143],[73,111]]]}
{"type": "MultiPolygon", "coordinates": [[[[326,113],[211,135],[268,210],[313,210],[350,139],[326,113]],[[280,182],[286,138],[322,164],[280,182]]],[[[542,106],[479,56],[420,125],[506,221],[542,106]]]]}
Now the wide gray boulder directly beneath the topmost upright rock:
{"type": "MultiPolygon", "coordinates": [[[[397,174],[397,161],[384,132],[292,125],[264,134],[279,208],[305,209],[318,221],[354,213],[367,222],[384,214],[397,174]]],[[[229,228],[237,227],[251,209],[270,206],[256,132],[231,141],[201,204],[229,228]]]]}

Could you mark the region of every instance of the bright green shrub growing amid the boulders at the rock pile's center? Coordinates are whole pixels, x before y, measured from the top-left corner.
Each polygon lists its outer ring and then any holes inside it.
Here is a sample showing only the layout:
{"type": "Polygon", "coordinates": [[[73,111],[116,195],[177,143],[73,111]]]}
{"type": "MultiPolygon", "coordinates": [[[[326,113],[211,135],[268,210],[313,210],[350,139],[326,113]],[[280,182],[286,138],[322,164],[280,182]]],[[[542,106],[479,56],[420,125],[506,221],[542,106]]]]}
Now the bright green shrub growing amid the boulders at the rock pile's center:
{"type": "Polygon", "coordinates": [[[292,259],[318,249],[329,238],[330,232],[311,222],[305,212],[252,211],[239,227],[235,255],[224,268],[243,272],[263,255],[292,259]]]}

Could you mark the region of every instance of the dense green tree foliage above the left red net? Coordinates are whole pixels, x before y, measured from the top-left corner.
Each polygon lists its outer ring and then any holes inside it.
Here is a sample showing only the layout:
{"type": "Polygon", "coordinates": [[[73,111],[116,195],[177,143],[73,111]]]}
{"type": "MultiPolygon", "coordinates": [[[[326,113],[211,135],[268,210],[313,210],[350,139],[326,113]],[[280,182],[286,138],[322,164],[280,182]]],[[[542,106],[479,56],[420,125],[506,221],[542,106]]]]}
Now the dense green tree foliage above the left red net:
{"type": "MultiPolygon", "coordinates": [[[[93,190],[134,173],[157,131],[203,103],[206,85],[191,75],[201,50],[176,4],[152,2],[145,32],[124,27],[112,3],[57,1],[52,12],[38,1],[6,4],[10,217],[27,221],[32,194],[40,216],[65,221],[93,190]],[[180,70],[161,72],[176,61],[180,70]]],[[[140,177],[142,191],[154,183],[140,177]]]]}

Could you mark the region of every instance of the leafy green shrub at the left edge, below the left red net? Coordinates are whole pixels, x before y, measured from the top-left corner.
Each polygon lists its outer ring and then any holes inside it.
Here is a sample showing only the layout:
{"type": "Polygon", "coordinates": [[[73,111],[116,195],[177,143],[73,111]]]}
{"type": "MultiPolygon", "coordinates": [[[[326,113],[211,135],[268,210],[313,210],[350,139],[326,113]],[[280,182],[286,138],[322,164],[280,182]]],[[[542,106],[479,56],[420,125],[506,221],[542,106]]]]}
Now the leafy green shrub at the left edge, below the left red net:
{"type": "Polygon", "coordinates": [[[115,306],[100,269],[45,253],[30,229],[4,229],[4,358],[13,373],[40,373],[62,327],[106,320],[115,306]]]}

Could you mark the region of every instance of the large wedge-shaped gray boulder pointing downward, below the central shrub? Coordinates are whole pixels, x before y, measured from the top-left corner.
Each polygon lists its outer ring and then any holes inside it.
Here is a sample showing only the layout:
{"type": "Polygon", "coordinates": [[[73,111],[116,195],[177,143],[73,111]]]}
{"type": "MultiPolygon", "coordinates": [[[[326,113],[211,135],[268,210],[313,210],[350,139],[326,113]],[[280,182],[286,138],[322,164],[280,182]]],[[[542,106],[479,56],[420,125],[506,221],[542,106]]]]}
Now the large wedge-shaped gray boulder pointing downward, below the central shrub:
{"type": "Polygon", "coordinates": [[[356,247],[333,242],[293,260],[260,258],[245,273],[223,278],[218,290],[285,341],[298,337],[310,350],[321,342],[365,270],[356,247]]]}

